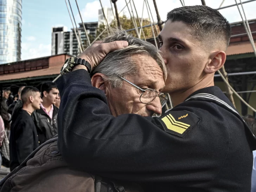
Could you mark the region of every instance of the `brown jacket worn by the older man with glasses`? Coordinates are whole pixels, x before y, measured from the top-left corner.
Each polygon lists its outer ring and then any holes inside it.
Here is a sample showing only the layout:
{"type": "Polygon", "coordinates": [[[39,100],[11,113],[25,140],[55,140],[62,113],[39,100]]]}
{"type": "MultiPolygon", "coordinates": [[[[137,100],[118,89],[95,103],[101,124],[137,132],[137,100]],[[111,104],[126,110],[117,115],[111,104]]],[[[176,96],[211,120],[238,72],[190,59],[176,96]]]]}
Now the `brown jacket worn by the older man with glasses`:
{"type": "MultiPolygon", "coordinates": [[[[95,177],[71,168],[62,158],[57,141],[43,146],[27,166],[8,178],[1,189],[11,192],[94,192],[95,177]]],[[[142,192],[139,186],[126,184],[126,192],[142,192]]]]}

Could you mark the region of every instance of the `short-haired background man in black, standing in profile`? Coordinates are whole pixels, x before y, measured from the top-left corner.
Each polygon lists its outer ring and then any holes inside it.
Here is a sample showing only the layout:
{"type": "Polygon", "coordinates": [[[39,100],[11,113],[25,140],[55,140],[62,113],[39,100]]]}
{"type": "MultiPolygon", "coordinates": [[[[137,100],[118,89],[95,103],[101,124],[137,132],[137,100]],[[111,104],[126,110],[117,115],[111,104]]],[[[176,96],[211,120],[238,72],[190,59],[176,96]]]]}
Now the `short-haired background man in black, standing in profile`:
{"type": "Polygon", "coordinates": [[[10,135],[10,170],[19,166],[38,146],[36,126],[31,117],[34,110],[40,108],[42,99],[37,88],[26,86],[21,92],[23,106],[11,125],[10,135]]]}

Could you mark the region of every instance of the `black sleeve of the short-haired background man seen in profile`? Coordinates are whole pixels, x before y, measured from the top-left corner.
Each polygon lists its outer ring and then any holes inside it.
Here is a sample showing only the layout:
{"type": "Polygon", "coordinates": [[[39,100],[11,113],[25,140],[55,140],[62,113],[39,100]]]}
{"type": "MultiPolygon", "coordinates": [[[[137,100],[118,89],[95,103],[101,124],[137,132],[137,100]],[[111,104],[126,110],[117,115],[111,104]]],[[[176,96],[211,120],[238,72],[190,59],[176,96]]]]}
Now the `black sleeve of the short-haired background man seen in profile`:
{"type": "Polygon", "coordinates": [[[16,129],[17,154],[21,164],[34,151],[33,126],[28,121],[21,121],[16,129]]]}

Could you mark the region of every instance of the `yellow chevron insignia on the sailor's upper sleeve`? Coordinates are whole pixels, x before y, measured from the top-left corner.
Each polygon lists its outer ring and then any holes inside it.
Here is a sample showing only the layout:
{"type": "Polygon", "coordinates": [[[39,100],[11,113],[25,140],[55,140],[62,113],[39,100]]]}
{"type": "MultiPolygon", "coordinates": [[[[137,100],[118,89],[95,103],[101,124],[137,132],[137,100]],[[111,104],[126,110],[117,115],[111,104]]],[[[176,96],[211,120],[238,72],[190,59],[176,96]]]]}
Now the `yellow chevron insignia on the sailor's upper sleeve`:
{"type": "MultiPolygon", "coordinates": [[[[188,114],[184,115],[187,116],[188,114]]],[[[190,125],[176,121],[171,114],[166,115],[161,119],[169,130],[183,134],[190,125]]]]}

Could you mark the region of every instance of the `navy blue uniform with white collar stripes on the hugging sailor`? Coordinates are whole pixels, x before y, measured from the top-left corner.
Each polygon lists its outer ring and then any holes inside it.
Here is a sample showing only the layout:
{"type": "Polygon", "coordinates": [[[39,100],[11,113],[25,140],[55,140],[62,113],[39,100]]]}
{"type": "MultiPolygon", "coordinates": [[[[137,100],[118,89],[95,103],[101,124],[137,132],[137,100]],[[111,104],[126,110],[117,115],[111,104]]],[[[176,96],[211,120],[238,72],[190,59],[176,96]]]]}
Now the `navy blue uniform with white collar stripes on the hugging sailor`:
{"type": "Polygon", "coordinates": [[[58,145],[72,166],[152,192],[250,191],[256,139],[218,87],[196,91],[160,118],[113,117],[83,69],[57,87],[58,145]]]}

